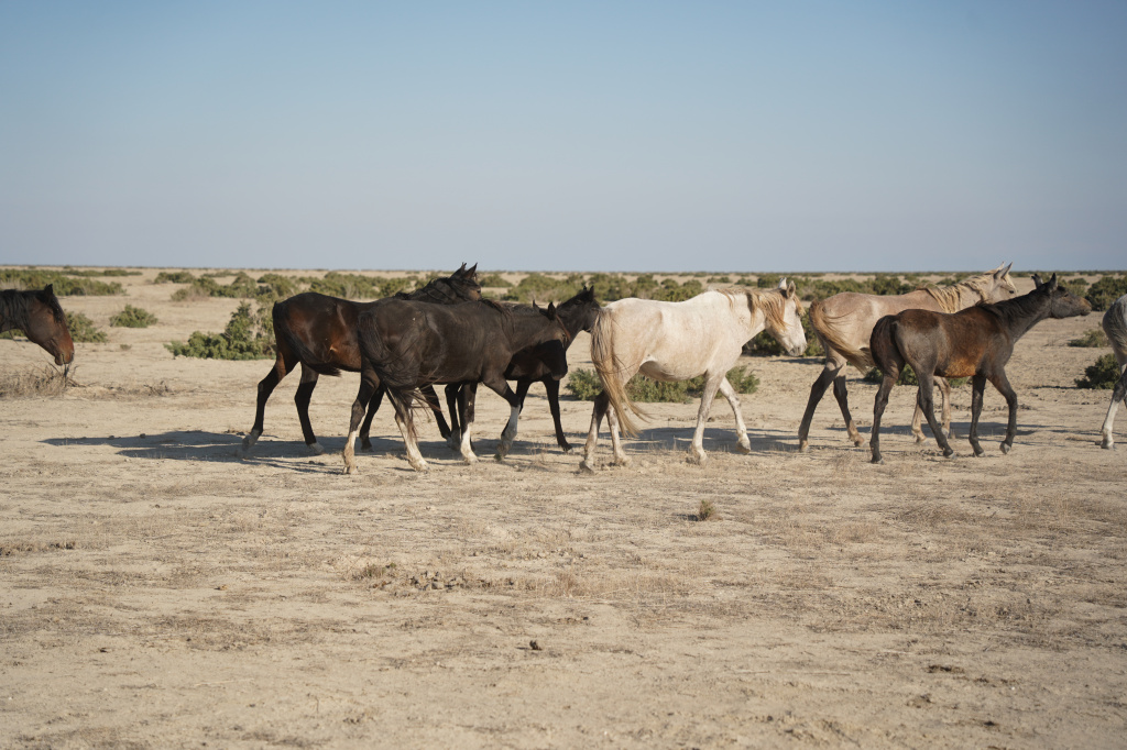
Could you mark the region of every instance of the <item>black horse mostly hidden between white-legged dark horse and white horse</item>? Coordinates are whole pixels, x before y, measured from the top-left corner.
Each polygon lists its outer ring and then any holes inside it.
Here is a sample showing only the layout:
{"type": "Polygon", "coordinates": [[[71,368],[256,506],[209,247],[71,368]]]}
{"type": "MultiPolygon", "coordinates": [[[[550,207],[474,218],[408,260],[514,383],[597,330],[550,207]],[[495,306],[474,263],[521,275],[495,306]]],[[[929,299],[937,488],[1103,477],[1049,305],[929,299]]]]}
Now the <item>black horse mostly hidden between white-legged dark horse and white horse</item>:
{"type": "MultiPolygon", "coordinates": [[[[578,294],[561,303],[556,309],[556,314],[562,321],[564,328],[567,329],[568,342],[560,345],[556,341],[548,341],[517,351],[513,360],[508,363],[508,367],[505,368],[505,380],[516,381],[516,398],[521,404],[518,411],[524,410],[524,399],[527,396],[532,384],[544,384],[544,391],[548,394],[548,410],[551,412],[552,422],[556,425],[556,444],[559,445],[564,453],[571,453],[571,445],[567,441],[567,437],[564,436],[564,427],[560,425],[560,382],[554,373],[560,372],[560,365],[562,364],[562,372],[567,374],[567,348],[575,340],[575,337],[578,336],[579,331],[591,332],[592,327],[595,324],[595,318],[598,315],[598,301],[595,300],[594,288],[584,287],[578,294]]],[[[459,387],[456,384],[446,386],[446,403],[451,421],[451,447],[454,447],[460,440],[459,408],[456,407],[458,394],[459,387]]],[[[496,458],[499,461],[504,457],[505,453],[498,450],[496,458]]]]}

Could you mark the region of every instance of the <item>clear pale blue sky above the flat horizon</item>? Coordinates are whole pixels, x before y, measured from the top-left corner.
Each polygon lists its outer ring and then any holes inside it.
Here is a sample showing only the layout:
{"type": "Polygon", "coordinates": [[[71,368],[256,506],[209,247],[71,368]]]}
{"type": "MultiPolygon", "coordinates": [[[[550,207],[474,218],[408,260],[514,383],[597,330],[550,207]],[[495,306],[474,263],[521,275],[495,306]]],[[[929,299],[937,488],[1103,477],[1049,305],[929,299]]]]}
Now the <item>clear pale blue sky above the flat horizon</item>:
{"type": "Polygon", "coordinates": [[[0,262],[1127,268],[1127,2],[0,2],[0,262]]]}

